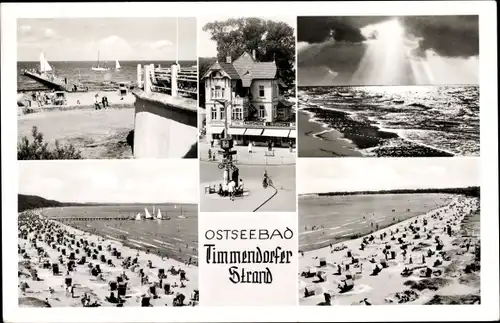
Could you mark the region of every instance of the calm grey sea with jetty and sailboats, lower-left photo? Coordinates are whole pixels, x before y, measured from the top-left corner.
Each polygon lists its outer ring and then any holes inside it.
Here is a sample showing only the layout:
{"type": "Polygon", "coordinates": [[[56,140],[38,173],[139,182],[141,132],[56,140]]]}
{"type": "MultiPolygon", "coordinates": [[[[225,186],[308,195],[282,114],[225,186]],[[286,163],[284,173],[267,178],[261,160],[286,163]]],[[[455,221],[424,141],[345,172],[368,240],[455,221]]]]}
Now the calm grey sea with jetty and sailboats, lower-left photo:
{"type": "Polygon", "coordinates": [[[43,213],[54,220],[58,217],[88,218],[87,221],[71,220],[64,223],[106,239],[121,241],[135,249],[149,249],[182,262],[189,258],[196,260],[198,205],[162,203],[154,207],[156,210],[161,210],[163,217],[169,216],[171,219],[161,221],[121,219],[134,219],[139,212],[144,216],[144,208],[156,216],[151,204],[56,207],[44,209],[43,213]],[[185,218],[179,218],[180,215],[185,218]],[[106,217],[107,220],[92,221],[94,217],[106,217]]]}

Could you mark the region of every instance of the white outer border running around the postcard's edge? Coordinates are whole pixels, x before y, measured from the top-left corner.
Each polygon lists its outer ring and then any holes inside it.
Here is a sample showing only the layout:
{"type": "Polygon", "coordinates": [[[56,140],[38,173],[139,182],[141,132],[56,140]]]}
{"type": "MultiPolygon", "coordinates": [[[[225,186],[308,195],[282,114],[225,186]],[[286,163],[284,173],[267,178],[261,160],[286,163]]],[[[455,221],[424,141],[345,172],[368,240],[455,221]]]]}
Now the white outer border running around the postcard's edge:
{"type": "Polygon", "coordinates": [[[2,116],[2,242],[3,319],[7,322],[189,322],[189,321],[404,321],[498,320],[498,97],[496,2],[190,2],[190,3],[2,3],[1,4],[1,116],[2,116]],[[95,7],[99,10],[94,10],[95,7]],[[481,107],[481,305],[473,306],[335,306],[328,307],[217,307],[183,308],[18,308],[15,244],[18,191],[16,142],[16,18],[54,17],[162,17],[211,15],[360,16],[360,15],[459,15],[480,16],[481,107]],[[285,11],[286,10],[286,11],[285,11]],[[213,14],[212,14],[213,15],[213,14]],[[488,170],[486,172],[486,170],[488,170]],[[488,257],[485,257],[488,255],[488,257]]]}

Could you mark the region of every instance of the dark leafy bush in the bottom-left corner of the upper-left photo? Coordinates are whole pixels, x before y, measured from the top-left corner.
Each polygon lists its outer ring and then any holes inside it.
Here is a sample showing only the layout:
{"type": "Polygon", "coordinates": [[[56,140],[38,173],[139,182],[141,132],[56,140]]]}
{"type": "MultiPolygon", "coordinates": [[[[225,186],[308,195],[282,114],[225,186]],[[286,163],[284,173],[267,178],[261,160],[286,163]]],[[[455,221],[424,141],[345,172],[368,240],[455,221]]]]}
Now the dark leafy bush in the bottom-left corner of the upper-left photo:
{"type": "Polygon", "coordinates": [[[56,140],[55,148],[51,150],[49,144],[43,141],[43,134],[38,132],[36,126],[33,126],[31,136],[33,142],[24,136],[17,145],[18,160],[82,159],[81,152],[71,144],[61,146],[56,140]]]}

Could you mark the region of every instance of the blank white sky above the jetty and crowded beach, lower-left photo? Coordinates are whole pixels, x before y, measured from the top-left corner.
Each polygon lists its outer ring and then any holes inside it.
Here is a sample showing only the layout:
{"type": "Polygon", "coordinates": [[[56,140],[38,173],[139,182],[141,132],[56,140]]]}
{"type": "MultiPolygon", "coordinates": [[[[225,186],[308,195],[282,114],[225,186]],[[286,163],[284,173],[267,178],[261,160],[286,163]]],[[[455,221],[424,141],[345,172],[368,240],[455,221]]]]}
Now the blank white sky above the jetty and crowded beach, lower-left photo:
{"type": "Polygon", "coordinates": [[[60,202],[198,203],[198,162],[24,161],[19,193],[60,202]]]}

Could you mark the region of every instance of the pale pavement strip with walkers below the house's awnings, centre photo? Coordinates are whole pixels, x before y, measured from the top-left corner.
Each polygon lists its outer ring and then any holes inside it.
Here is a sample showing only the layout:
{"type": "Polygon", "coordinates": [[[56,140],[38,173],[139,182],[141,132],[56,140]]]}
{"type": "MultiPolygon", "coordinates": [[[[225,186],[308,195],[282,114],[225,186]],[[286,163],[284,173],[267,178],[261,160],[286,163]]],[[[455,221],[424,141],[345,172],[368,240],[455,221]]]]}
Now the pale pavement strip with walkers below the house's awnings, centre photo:
{"type": "MultiPolygon", "coordinates": [[[[205,139],[200,139],[199,147],[200,160],[209,162],[208,149],[211,149],[212,153],[215,153],[215,161],[211,162],[217,164],[221,162],[222,155],[217,153],[221,149],[220,146],[214,145],[210,148],[205,139]]],[[[248,152],[248,146],[235,146],[233,150],[237,152],[233,155],[233,161],[237,165],[295,165],[297,159],[295,148],[292,152],[289,148],[274,148],[274,156],[266,156],[267,147],[253,147],[252,153],[248,152]]]]}

